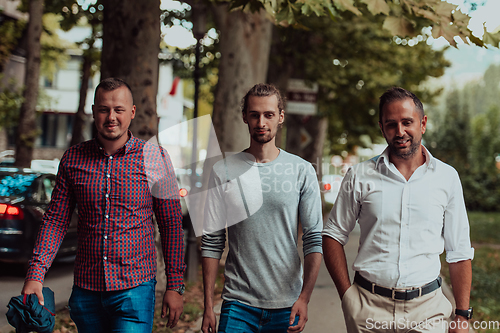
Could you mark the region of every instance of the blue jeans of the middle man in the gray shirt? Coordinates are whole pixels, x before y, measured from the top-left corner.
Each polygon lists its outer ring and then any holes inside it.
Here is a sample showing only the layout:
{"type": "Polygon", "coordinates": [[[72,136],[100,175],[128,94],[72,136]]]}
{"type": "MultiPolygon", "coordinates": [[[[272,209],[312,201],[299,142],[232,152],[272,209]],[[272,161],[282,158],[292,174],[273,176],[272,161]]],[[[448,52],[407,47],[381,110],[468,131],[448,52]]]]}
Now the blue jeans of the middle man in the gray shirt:
{"type": "Polygon", "coordinates": [[[219,320],[219,333],[286,333],[292,308],[260,309],[237,301],[224,301],[219,320]]]}

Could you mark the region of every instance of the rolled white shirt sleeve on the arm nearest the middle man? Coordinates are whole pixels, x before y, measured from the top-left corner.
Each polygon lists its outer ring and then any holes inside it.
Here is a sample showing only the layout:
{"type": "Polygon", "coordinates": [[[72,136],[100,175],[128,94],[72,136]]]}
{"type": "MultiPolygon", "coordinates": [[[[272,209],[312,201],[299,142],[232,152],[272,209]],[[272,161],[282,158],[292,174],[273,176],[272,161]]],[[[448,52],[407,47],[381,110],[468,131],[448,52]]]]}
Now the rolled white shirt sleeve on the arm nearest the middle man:
{"type": "Polygon", "coordinates": [[[328,236],[345,245],[354,229],[359,214],[359,201],[356,199],[355,174],[350,168],[340,186],[335,204],[323,228],[323,236],[328,236]]]}

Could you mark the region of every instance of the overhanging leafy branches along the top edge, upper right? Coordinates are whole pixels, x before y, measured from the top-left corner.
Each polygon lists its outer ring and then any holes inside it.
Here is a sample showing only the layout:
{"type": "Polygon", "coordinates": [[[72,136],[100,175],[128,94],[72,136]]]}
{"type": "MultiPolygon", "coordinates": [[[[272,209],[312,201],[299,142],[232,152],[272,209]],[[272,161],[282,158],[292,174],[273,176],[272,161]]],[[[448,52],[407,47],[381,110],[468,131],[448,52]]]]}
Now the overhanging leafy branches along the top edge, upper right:
{"type": "MultiPolygon", "coordinates": [[[[444,37],[452,46],[456,46],[455,36],[465,43],[469,40],[479,46],[490,43],[480,40],[468,28],[470,17],[457,5],[442,0],[231,0],[231,8],[256,11],[264,7],[280,25],[303,25],[304,15],[316,17],[344,17],[349,12],[358,16],[367,9],[371,14],[385,15],[384,28],[391,34],[401,37],[417,36],[423,27],[431,27],[434,38],[444,37]]],[[[307,26],[307,25],[306,25],[307,26]]],[[[487,37],[487,36],[485,36],[487,37]]]]}

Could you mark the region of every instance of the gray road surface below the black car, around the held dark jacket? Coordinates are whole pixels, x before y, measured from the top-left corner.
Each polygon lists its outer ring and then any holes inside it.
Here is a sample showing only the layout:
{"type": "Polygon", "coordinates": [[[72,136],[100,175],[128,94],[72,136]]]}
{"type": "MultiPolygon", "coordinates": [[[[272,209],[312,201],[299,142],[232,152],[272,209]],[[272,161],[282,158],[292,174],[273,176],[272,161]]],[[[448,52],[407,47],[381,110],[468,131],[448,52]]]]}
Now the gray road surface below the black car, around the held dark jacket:
{"type": "MultiPolygon", "coordinates": [[[[56,309],[61,309],[68,304],[68,299],[73,286],[73,260],[55,262],[45,277],[45,287],[54,291],[56,309]]],[[[0,264],[0,333],[14,332],[9,325],[5,313],[10,298],[18,296],[24,283],[24,276],[20,269],[13,265],[0,264]]]]}

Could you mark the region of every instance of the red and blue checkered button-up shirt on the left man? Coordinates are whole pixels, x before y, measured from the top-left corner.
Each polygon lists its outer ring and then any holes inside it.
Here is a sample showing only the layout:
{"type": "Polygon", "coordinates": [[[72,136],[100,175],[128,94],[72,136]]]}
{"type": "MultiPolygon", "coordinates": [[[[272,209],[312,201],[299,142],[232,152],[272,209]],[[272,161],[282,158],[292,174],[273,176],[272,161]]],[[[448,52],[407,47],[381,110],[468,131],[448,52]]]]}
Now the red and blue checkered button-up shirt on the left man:
{"type": "Polygon", "coordinates": [[[153,212],[161,235],[167,289],[181,286],[184,243],[174,169],[163,148],[129,135],[125,146],[113,155],[106,155],[95,139],[64,153],[27,280],[43,283],[76,205],[77,286],[123,290],[153,279],[153,212]]]}

